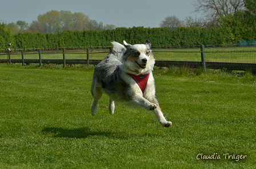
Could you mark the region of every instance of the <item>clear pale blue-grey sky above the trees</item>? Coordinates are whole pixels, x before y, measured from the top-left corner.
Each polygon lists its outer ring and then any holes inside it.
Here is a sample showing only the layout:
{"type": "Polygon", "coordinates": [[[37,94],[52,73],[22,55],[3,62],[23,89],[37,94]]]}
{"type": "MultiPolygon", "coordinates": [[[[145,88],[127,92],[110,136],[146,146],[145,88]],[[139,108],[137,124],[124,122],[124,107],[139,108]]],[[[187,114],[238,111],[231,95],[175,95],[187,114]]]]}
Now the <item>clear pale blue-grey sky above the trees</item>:
{"type": "Polygon", "coordinates": [[[196,17],[193,13],[195,0],[6,0],[0,2],[0,21],[31,23],[39,14],[51,10],[84,13],[90,19],[116,27],[159,27],[167,16],[196,17]]]}

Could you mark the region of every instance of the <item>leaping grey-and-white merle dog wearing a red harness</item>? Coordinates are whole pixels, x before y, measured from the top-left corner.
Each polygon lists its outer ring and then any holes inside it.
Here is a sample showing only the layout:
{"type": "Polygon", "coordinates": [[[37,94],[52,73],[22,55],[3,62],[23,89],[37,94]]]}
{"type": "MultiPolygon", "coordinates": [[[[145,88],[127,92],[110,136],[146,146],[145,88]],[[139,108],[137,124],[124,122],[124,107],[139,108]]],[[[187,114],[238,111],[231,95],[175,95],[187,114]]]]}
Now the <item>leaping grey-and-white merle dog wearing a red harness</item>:
{"type": "Polygon", "coordinates": [[[109,112],[114,114],[114,101],[130,108],[142,108],[154,112],[162,126],[170,127],[155,97],[153,68],[155,58],[151,43],[123,44],[112,42],[113,49],[94,69],[91,82],[93,104],[91,114],[97,113],[98,100],[102,93],[109,96],[109,112]]]}

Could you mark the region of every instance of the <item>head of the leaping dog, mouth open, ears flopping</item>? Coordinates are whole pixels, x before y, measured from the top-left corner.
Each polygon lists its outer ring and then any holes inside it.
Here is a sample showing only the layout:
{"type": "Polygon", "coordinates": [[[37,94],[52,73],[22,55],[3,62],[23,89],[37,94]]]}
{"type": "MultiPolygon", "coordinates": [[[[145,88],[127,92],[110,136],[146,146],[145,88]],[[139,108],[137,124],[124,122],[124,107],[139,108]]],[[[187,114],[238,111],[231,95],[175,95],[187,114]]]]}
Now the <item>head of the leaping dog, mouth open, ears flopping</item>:
{"type": "Polygon", "coordinates": [[[151,43],[146,40],[146,44],[127,44],[123,41],[126,51],[122,56],[122,63],[127,72],[133,74],[146,74],[153,70],[155,64],[154,55],[151,53],[151,43]]]}

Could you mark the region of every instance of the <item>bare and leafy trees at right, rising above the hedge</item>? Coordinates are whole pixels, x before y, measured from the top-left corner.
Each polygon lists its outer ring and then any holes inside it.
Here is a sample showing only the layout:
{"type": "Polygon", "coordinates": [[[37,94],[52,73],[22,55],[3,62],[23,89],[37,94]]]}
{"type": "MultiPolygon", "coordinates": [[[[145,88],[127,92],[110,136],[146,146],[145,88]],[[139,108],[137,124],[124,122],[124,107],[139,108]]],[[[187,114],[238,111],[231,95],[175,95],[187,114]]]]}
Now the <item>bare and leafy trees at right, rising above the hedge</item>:
{"type": "MultiPolygon", "coordinates": [[[[253,31],[256,26],[256,0],[195,0],[193,6],[194,13],[202,14],[201,18],[186,17],[180,20],[172,15],[162,20],[160,26],[171,29],[222,28],[233,34],[241,31],[241,38],[244,37],[242,31],[253,31]]],[[[250,39],[249,35],[243,39],[250,39]]]]}

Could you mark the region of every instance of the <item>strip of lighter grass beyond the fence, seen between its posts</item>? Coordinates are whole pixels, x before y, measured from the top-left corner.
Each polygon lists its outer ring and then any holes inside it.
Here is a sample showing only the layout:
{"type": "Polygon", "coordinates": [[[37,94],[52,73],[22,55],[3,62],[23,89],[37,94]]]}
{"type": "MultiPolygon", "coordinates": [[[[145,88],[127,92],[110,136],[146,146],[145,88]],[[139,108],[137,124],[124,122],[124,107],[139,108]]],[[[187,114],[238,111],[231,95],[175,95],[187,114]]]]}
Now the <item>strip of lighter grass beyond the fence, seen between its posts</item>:
{"type": "MultiPolygon", "coordinates": [[[[108,49],[90,51],[90,59],[101,60],[107,55],[108,52],[108,49]]],[[[153,49],[153,54],[156,60],[201,61],[200,48],[153,49]]],[[[25,59],[38,59],[38,52],[25,53],[24,57],[25,59]]],[[[11,58],[21,59],[21,54],[19,53],[18,55],[11,55],[11,58]]],[[[62,52],[47,53],[47,51],[42,51],[42,59],[62,58],[62,52]]],[[[205,48],[206,61],[256,63],[255,58],[256,47],[205,48]]],[[[0,59],[6,59],[6,55],[0,55],[0,59]]],[[[86,59],[86,50],[66,51],[66,59],[86,59]]]]}

